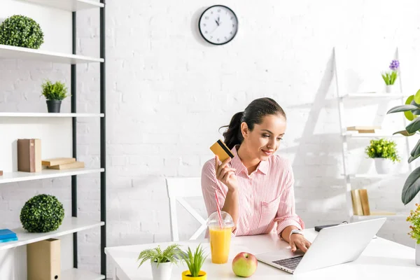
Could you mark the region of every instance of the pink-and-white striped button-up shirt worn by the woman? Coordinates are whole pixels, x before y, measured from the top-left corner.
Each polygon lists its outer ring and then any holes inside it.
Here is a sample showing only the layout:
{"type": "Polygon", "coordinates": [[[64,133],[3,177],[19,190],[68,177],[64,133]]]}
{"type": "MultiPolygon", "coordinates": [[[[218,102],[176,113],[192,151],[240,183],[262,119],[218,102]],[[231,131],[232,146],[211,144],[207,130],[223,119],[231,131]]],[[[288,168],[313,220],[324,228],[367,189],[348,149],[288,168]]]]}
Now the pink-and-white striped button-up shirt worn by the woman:
{"type": "MultiPolygon", "coordinates": [[[[304,223],[295,213],[293,170],[288,160],[271,155],[248,175],[236,147],[232,153],[235,157],[229,165],[236,169],[239,186],[239,217],[233,234],[261,235],[274,228],[280,234],[289,225],[303,230],[304,223]]],[[[222,209],[228,187],[216,179],[214,159],[207,161],[202,169],[202,192],[209,216],[217,211],[214,193],[222,209]]]]}

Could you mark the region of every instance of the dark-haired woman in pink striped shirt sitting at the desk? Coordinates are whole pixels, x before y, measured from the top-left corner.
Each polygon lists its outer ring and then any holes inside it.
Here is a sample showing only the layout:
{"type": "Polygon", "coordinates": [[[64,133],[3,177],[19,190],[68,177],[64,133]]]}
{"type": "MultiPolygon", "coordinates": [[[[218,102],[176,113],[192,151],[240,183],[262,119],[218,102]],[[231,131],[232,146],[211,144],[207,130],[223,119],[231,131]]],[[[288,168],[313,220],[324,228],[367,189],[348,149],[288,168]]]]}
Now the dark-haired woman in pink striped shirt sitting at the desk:
{"type": "Polygon", "coordinates": [[[216,193],[219,207],[233,218],[233,235],[265,234],[276,225],[293,252],[306,252],[311,243],[295,214],[292,167],[274,155],[286,131],[286,113],[273,99],[255,99],[227,127],[223,137],[234,158],[220,162],[216,156],[202,169],[208,214],[217,211],[216,193]]]}

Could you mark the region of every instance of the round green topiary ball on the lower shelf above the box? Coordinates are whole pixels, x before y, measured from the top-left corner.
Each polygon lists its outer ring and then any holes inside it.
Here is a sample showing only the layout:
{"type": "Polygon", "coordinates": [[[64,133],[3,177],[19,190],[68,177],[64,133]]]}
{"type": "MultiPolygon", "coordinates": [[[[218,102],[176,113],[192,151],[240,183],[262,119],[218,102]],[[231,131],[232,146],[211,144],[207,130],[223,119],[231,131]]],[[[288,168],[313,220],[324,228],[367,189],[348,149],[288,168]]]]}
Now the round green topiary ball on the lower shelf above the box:
{"type": "Polygon", "coordinates": [[[57,230],[63,218],[63,204],[53,195],[36,195],[20,211],[20,223],[28,232],[57,230]]]}

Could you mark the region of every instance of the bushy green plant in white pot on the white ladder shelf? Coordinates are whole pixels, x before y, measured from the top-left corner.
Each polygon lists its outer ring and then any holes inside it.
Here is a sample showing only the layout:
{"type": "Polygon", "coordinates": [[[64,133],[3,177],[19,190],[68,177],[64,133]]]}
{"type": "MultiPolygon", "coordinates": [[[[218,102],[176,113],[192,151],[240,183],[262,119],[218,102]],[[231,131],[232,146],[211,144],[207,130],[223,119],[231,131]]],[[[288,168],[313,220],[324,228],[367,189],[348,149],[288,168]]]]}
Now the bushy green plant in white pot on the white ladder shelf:
{"type": "Polygon", "coordinates": [[[378,174],[390,173],[391,163],[400,161],[396,146],[394,141],[386,139],[370,140],[370,145],[365,148],[365,153],[369,158],[374,159],[374,166],[378,174]]]}

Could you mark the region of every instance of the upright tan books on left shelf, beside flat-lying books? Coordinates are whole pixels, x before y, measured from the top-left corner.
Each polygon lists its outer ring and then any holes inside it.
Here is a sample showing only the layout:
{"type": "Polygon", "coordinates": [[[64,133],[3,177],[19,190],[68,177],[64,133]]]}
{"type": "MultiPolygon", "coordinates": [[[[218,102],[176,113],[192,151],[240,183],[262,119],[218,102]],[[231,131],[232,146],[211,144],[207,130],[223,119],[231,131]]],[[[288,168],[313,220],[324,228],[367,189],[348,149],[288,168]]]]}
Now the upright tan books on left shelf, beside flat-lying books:
{"type": "Polygon", "coordinates": [[[41,139],[18,139],[18,171],[41,170],[41,139]]]}

